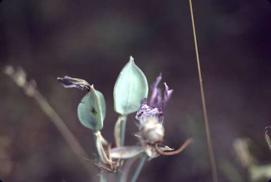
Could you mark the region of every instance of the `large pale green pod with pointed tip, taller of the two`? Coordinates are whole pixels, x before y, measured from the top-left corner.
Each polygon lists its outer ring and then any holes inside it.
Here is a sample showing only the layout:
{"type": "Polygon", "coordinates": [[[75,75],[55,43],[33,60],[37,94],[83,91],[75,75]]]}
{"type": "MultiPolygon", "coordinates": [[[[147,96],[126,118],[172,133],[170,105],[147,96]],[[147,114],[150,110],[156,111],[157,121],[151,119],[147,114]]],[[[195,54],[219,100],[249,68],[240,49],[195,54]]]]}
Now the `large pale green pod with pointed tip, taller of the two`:
{"type": "Polygon", "coordinates": [[[144,73],[135,65],[134,58],[122,69],[114,87],[114,108],[117,113],[128,115],[136,112],[140,101],[148,95],[148,82],[144,73]]]}

